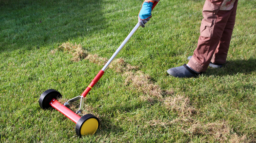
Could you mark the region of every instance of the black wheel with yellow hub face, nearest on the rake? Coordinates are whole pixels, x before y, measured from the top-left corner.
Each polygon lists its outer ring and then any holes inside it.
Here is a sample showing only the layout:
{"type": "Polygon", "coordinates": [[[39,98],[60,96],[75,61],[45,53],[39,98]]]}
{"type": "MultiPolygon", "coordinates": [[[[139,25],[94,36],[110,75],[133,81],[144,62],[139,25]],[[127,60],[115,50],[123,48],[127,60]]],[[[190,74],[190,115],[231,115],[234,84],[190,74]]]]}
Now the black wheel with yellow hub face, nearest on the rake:
{"type": "Polygon", "coordinates": [[[99,128],[99,119],[92,115],[86,114],[81,117],[75,125],[75,133],[79,137],[82,135],[93,135],[99,128]]]}

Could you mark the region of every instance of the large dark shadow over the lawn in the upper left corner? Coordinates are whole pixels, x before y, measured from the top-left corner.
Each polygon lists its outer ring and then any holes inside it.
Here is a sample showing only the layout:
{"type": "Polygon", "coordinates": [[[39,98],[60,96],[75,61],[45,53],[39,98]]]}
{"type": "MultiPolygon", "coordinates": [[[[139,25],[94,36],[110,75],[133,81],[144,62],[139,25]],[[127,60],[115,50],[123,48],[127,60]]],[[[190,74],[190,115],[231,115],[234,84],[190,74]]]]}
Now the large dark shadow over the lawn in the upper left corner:
{"type": "Polygon", "coordinates": [[[100,0],[0,1],[0,52],[85,37],[105,26],[100,0]]]}

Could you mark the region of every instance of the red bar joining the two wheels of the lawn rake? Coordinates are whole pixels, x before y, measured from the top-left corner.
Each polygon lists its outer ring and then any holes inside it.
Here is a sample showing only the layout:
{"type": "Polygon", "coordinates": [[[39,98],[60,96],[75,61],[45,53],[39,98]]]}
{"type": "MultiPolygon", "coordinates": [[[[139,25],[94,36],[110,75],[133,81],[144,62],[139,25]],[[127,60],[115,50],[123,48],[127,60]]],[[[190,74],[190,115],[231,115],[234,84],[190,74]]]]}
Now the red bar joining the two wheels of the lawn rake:
{"type": "Polygon", "coordinates": [[[50,102],[50,105],[56,110],[58,110],[60,113],[62,113],[63,115],[65,115],[66,117],[74,121],[75,123],[77,123],[78,120],[81,118],[80,116],[75,114],[73,111],[71,111],[69,108],[59,103],[56,99],[53,99],[50,102]]]}

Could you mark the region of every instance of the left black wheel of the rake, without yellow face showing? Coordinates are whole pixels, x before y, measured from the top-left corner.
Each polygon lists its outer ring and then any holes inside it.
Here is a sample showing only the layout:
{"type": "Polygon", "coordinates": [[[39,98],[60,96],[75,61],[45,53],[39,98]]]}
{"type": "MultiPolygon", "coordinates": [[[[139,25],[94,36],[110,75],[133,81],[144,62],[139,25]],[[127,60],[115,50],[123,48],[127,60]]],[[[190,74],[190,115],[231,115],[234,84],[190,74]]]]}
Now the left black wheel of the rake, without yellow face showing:
{"type": "Polygon", "coordinates": [[[39,105],[42,109],[48,109],[51,107],[50,102],[53,100],[53,98],[57,99],[62,97],[62,95],[54,89],[48,89],[45,92],[43,92],[39,98],[39,105]]]}

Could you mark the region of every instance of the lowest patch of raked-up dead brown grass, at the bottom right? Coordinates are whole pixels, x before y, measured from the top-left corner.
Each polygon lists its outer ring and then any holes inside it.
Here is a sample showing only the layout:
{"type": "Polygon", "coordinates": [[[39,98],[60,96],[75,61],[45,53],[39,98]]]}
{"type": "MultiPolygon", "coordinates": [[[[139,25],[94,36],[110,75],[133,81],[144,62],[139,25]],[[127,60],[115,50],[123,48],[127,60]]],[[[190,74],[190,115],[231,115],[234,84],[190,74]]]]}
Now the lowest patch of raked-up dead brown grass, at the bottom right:
{"type": "Polygon", "coordinates": [[[177,118],[171,121],[162,121],[159,119],[153,119],[147,121],[149,126],[163,126],[170,127],[173,124],[179,125],[183,132],[187,132],[187,135],[191,138],[195,136],[204,136],[202,142],[208,142],[209,139],[213,139],[216,142],[229,142],[229,143],[249,143],[246,135],[238,135],[233,132],[230,125],[226,121],[216,121],[213,123],[203,124],[199,121],[195,121],[191,118],[177,118]]]}

